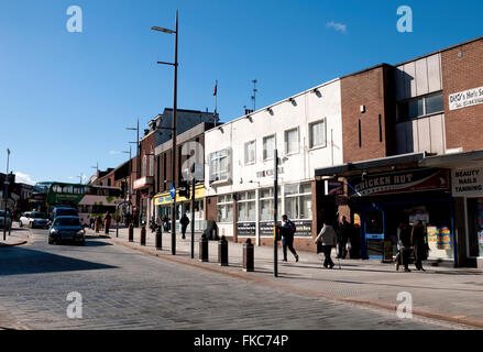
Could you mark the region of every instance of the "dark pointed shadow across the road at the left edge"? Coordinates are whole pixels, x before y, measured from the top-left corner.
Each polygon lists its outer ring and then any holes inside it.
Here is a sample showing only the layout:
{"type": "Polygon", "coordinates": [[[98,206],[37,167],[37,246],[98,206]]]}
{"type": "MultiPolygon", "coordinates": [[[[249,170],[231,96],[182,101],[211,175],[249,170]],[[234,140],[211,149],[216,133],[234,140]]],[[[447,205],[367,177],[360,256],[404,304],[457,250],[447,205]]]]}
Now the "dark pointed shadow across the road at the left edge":
{"type": "Polygon", "coordinates": [[[0,276],[116,268],[47,252],[12,246],[0,256],[0,276]]]}

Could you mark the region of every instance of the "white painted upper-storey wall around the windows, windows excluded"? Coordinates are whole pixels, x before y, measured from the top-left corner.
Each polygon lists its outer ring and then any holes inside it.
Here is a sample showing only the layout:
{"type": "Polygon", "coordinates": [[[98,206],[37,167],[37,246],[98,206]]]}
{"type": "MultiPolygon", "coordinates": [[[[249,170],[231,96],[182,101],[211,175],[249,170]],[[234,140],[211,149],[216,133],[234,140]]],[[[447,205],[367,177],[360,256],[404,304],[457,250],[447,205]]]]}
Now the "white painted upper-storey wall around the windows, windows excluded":
{"type": "MultiPolygon", "coordinates": [[[[340,165],[342,158],[342,112],[340,80],[336,79],[317,87],[320,95],[314,89],[293,97],[295,106],[287,99],[271,106],[273,114],[267,108],[255,111],[251,120],[239,118],[220,128],[205,132],[205,186],[207,196],[232,194],[243,190],[273,187],[273,176],[259,178],[256,173],[271,170],[274,161],[263,161],[263,138],[276,135],[278,156],[285,157],[281,167],[279,184],[311,180],[315,169],[330,165],[340,165]],[[327,145],[309,150],[309,123],[326,119],[327,145]],[[285,155],[285,131],[298,128],[299,151],[285,155]],[[252,165],[244,163],[244,144],[255,140],[256,161],[252,165]],[[220,186],[210,185],[210,153],[231,150],[231,182],[220,186]]],[[[220,226],[220,233],[223,232],[220,226]]],[[[232,228],[227,228],[227,234],[232,228]]]]}

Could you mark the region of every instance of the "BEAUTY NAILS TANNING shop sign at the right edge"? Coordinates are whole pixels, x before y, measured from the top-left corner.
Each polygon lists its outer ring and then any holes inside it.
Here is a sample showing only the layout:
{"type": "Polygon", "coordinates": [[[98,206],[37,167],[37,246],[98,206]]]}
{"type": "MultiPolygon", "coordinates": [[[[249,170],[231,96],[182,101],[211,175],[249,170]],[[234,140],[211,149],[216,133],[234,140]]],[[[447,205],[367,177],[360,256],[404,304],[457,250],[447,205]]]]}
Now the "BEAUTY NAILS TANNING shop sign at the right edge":
{"type": "Polygon", "coordinates": [[[483,168],[453,169],[453,197],[483,197],[483,168]]]}

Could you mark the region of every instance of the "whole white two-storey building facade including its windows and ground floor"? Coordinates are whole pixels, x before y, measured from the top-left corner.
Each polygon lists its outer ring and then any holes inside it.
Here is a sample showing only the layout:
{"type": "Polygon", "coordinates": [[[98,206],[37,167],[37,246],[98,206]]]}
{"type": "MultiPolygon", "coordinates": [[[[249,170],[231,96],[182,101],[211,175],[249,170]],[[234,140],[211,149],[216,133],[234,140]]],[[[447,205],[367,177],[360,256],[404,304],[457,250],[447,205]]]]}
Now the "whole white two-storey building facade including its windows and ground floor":
{"type": "Polygon", "coordinates": [[[278,220],[286,213],[296,223],[296,246],[314,248],[315,169],[343,161],[339,79],[205,133],[207,220],[220,237],[272,244],[275,148],[278,220]]]}

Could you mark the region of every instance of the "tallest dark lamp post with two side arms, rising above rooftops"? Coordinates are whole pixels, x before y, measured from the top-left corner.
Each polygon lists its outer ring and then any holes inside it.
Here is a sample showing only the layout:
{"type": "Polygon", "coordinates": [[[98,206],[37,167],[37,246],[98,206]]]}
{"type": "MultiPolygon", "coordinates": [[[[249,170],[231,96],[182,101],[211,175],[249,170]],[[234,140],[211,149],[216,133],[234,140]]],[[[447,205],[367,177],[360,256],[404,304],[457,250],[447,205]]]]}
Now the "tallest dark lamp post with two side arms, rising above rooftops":
{"type": "Polygon", "coordinates": [[[176,127],[177,127],[177,91],[178,91],[178,10],[176,10],[176,24],[175,30],[163,29],[158,26],[152,26],[153,31],[158,31],[167,34],[175,34],[175,62],[174,63],[165,63],[157,62],[157,64],[162,65],[171,65],[175,68],[175,77],[174,77],[174,97],[173,97],[173,155],[172,155],[172,186],[175,188],[175,193],[173,196],[173,205],[172,205],[172,254],[176,255],[176,179],[175,179],[175,169],[176,169],[176,127]]]}

